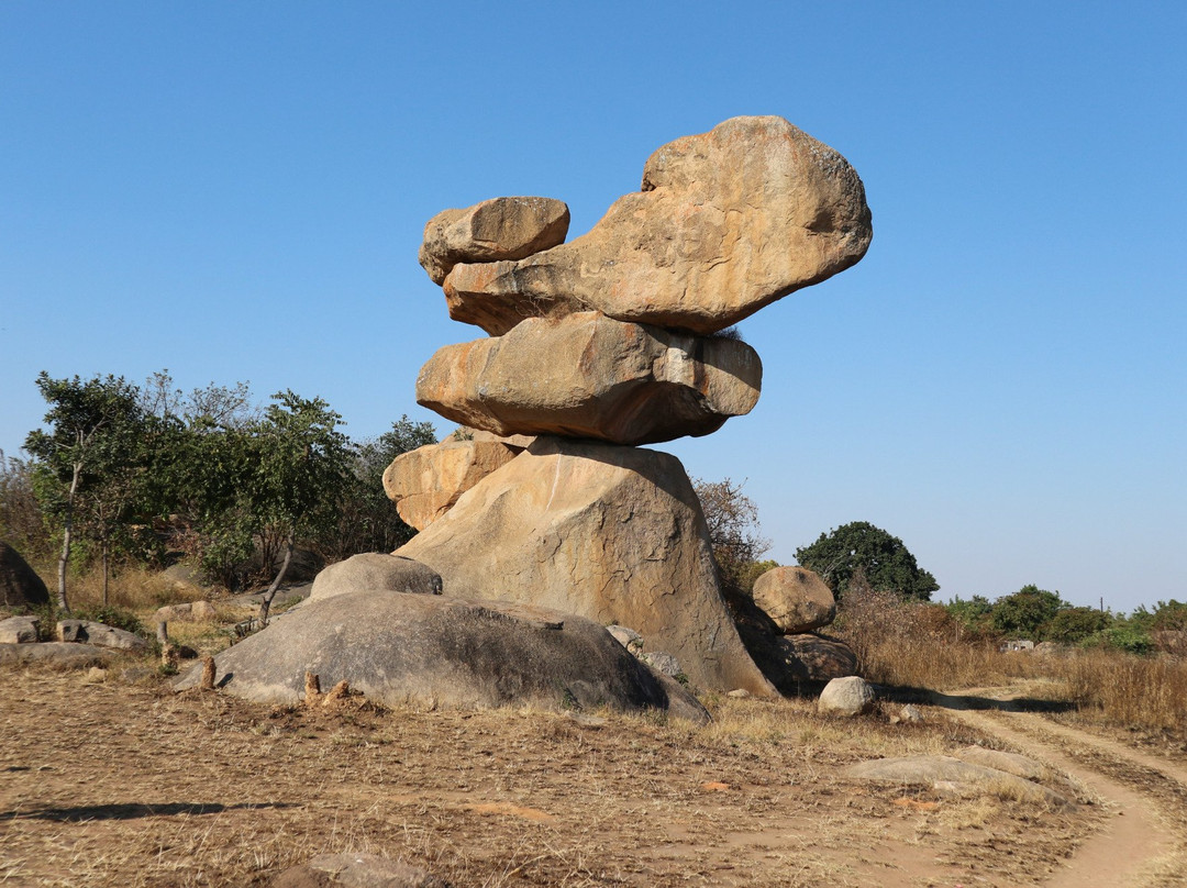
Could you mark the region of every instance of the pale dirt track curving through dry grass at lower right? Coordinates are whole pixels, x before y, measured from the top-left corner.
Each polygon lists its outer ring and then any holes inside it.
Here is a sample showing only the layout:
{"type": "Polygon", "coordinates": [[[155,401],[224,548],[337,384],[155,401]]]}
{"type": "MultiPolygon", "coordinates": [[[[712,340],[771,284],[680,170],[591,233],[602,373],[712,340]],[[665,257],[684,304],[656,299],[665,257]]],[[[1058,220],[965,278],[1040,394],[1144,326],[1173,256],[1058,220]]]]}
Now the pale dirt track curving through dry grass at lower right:
{"type": "Polygon", "coordinates": [[[1111,817],[1046,888],[1174,886],[1187,881],[1187,770],[1014,704],[1016,692],[941,694],[954,718],[1079,781],[1111,817]],[[985,705],[989,709],[984,709],[985,705]]]}

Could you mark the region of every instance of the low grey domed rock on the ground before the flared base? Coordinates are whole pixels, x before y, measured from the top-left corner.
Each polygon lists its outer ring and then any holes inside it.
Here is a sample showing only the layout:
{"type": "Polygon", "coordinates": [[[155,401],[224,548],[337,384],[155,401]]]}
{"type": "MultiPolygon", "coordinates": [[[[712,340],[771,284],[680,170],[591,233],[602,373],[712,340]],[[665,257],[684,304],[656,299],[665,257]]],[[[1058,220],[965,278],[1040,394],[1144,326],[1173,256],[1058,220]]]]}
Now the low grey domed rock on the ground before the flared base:
{"type": "MultiPolygon", "coordinates": [[[[707,718],[661,685],[601,626],[571,614],[439,595],[353,592],[310,602],[215,658],[218,686],[294,703],[305,673],[349,681],[368,699],[456,708],[610,706],[707,718]]],[[[199,668],[177,687],[192,687],[199,668]]]]}

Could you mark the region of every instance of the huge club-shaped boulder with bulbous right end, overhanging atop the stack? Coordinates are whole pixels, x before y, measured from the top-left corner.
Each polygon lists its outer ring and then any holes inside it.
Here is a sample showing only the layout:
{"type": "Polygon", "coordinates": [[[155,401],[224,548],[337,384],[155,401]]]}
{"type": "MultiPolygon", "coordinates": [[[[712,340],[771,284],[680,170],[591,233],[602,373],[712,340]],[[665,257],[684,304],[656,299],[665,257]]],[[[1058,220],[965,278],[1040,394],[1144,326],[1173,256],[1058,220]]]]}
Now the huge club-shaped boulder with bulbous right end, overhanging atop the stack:
{"type": "Polygon", "coordinates": [[[659,148],[642,191],[586,234],[519,261],[459,264],[450,317],[500,335],[597,309],[711,334],[857,262],[872,229],[840,154],[782,118],[734,118],[659,148]]]}

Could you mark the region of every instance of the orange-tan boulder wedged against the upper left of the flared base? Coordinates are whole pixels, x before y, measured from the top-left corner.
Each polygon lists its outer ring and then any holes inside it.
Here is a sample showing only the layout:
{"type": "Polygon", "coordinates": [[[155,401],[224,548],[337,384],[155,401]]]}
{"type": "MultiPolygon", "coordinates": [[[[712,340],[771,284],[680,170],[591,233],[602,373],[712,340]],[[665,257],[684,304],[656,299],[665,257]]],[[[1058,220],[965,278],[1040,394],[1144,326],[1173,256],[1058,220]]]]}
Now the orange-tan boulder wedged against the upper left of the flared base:
{"type": "Polygon", "coordinates": [[[480,430],[459,430],[439,444],[400,453],[383,472],[383,490],[400,518],[418,531],[449,512],[457,499],[532,443],[480,430]]]}

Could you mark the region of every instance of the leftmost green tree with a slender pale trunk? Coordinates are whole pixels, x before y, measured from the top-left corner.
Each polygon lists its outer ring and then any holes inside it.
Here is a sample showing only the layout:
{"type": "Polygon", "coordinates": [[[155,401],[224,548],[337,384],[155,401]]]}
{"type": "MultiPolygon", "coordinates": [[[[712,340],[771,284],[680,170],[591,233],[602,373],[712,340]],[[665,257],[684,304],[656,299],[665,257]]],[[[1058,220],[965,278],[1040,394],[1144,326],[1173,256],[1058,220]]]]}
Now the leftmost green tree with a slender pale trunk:
{"type": "Polygon", "coordinates": [[[38,461],[34,489],[42,509],[61,522],[58,607],[69,611],[66,567],[76,520],[103,547],[106,597],[110,533],[135,500],[144,413],[137,387],[122,376],[55,380],[43,370],[37,387],[50,405],[49,430],[30,432],[25,449],[38,461]]]}

